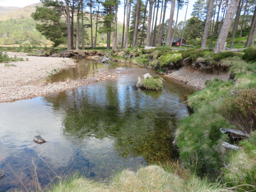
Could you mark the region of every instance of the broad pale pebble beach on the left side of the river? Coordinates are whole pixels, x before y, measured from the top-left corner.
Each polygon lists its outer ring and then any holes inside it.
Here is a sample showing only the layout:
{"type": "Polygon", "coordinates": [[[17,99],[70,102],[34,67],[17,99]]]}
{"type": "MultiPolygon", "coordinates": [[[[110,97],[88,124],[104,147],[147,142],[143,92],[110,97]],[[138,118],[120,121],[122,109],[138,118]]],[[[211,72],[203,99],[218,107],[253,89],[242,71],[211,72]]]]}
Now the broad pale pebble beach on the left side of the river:
{"type": "Polygon", "coordinates": [[[116,79],[120,75],[102,70],[100,73],[96,73],[92,79],[31,85],[35,81],[49,77],[50,73],[54,74],[64,68],[75,67],[75,62],[70,58],[33,57],[26,56],[26,53],[8,52],[8,55],[9,57],[14,55],[23,57],[24,61],[9,62],[9,64],[16,66],[4,66],[4,63],[0,63],[0,102],[45,96],[94,81],[116,79]],[[28,58],[28,61],[26,61],[26,58],[28,58]],[[57,71],[55,72],[54,69],[57,71]]]}

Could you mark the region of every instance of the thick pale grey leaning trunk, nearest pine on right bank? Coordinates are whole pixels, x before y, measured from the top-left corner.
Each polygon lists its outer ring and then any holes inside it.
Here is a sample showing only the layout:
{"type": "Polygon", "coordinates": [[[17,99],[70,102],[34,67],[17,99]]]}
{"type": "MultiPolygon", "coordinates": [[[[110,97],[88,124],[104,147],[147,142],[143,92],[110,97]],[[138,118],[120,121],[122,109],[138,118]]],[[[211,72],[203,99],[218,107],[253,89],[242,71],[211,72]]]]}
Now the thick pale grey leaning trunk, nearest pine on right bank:
{"type": "Polygon", "coordinates": [[[216,41],[216,45],[213,49],[213,53],[222,52],[225,50],[225,42],[234,18],[235,11],[238,7],[239,0],[232,0],[230,2],[230,7],[227,11],[226,17],[223,21],[223,26],[221,27],[220,35],[216,41]]]}

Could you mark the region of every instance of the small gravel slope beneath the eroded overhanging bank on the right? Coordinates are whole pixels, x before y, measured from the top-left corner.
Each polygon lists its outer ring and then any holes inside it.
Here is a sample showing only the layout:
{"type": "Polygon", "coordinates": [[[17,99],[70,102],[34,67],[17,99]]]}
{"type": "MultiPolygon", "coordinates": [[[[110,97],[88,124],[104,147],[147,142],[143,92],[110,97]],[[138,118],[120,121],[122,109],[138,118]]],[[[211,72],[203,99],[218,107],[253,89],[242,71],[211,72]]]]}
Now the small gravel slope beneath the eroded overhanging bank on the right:
{"type": "Polygon", "coordinates": [[[207,80],[218,78],[227,81],[230,78],[229,73],[208,74],[188,67],[181,67],[179,70],[173,70],[171,73],[166,74],[166,76],[199,89],[205,88],[204,84],[207,80]]]}

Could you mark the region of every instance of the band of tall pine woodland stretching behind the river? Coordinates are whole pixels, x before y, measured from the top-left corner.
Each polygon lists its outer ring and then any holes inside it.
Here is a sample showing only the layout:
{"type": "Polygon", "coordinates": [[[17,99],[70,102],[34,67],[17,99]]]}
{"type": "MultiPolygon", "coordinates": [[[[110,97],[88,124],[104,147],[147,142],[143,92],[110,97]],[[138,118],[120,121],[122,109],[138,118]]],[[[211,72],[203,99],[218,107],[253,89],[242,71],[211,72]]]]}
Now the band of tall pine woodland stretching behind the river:
{"type": "Polygon", "coordinates": [[[53,46],[67,44],[68,49],[84,49],[85,45],[95,48],[102,43],[108,49],[110,44],[116,49],[157,46],[163,39],[168,44],[175,37],[183,37],[190,45],[201,44],[202,49],[206,43],[209,47],[216,44],[214,52],[221,52],[229,32],[230,48],[238,43],[237,31],[242,37],[243,31],[250,29],[245,47],[254,46],[256,35],[255,0],[197,0],[190,18],[186,20],[185,15],[180,22],[179,14],[191,6],[189,1],[42,0],[42,3],[31,15],[35,21],[31,18],[0,21],[1,43],[46,44],[49,39],[53,46]],[[117,22],[119,11],[124,13],[122,25],[117,22]]]}

